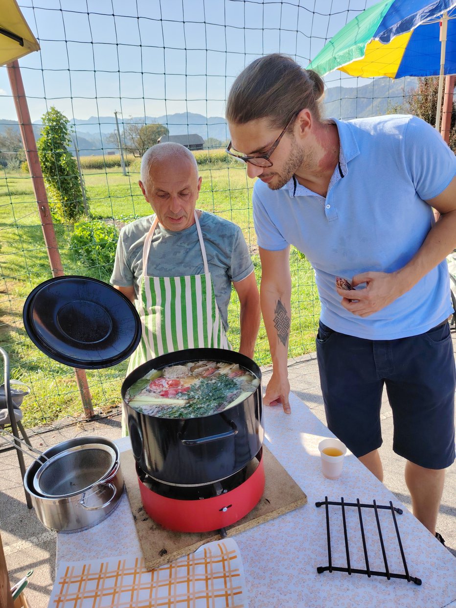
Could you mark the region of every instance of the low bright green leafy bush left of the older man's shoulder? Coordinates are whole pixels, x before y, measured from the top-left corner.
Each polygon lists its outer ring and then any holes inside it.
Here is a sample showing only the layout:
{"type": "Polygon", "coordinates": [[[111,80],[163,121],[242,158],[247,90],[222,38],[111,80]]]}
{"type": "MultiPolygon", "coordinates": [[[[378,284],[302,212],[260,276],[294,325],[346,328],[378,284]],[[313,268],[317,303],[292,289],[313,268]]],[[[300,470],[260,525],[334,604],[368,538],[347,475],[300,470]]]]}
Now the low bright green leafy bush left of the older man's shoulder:
{"type": "Polygon", "coordinates": [[[110,274],[118,236],[116,227],[102,220],[79,222],[71,235],[71,247],[85,266],[102,266],[110,274]]]}

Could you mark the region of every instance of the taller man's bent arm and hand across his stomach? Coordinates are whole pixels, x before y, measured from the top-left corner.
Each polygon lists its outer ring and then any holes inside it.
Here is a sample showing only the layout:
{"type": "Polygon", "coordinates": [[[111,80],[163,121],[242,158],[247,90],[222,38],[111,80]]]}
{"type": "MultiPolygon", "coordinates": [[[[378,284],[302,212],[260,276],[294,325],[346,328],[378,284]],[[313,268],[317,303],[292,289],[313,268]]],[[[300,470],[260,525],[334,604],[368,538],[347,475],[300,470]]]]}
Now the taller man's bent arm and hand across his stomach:
{"type": "Polygon", "coordinates": [[[385,308],[412,289],[456,247],[456,178],[440,195],[426,202],[437,209],[440,218],[420,249],[406,266],[396,272],[362,272],[353,277],[353,286],[367,283],[365,289],[347,292],[337,288],[337,293],[343,297],[342,306],[348,311],[368,317],[385,308]]]}

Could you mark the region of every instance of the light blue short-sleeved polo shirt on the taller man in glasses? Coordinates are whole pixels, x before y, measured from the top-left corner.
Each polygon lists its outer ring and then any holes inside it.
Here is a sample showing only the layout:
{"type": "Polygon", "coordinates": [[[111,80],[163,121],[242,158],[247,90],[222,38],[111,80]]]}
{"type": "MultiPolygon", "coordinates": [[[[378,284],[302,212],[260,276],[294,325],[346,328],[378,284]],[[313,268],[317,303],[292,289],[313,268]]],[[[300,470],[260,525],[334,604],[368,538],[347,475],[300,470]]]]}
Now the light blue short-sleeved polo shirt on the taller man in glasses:
{"type": "Polygon", "coordinates": [[[446,260],[410,291],[369,317],[340,304],[336,276],[393,272],[405,266],[434,223],[424,201],[456,175],[456,157],[440,134],[413,116],[333,120],[340,138],[339,164],[326,198],[294,178],[280,190],[255,182],[258,245],[294,245],[312,264],[322,306],[333,330],[373,340],[424,333],[452,312],[446,260]]]}

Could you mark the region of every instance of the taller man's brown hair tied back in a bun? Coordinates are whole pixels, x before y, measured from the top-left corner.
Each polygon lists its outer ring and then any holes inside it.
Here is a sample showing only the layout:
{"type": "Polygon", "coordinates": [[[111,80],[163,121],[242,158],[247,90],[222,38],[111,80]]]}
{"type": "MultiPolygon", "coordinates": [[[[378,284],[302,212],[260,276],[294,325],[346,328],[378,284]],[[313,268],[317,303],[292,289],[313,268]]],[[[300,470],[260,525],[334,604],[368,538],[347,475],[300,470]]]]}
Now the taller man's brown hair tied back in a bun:
{"type": "Polygon", "coordinates": [[[304,108],[320,121],[325,83],[313,70],[303,69],[287,55],[273,53],[252,61],[236,78],[226,103],[226,119],[243,125],[268,118],[272,128],[286,123],[304,108]]]}

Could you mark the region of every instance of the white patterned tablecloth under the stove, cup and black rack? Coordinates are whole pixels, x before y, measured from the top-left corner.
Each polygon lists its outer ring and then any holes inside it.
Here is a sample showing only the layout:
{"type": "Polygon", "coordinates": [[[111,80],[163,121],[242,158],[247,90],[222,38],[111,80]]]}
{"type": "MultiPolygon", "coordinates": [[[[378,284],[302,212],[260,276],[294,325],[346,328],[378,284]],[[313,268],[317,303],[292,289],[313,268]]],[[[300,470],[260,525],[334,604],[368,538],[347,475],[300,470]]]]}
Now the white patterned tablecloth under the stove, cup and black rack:
{"type": "MultiPolygon", "coordinates": [[[[398,499],[348,453],[338,480],[323,477],[319,441],[331,432],[295,395],[292,413],[282,407],[265,407],[265,444],[305,491],[308,503],[270,522],[235,535],[244,564],[250,608],[443,608],[456,606],[456,561],[398,499]],[[416,586],[403,579],[342,572],[317,573],[328,565],[325,508],[320,500],[393,505],[410,576],[423,582],[416,586]]],[[[128,438],[119,440],[128,449],[128,438]]],[[[352,568],[365,568],[358,510],[345,510],[352,568]]],[[[403,573],[401,554],[389,511],[379,511],[390,572],[403,573]]],[[[330,506],[333,565],[347,566],[340,507],[330,506]]],[[[375,513],[363,513],[371,570],[385,570],[375,513]]],[[[141,555],[128,497],[116,511],[94,528],[76,534],[57,535],[57,567],[61,562],[102,559],[109,555],[141,555]]]]}

